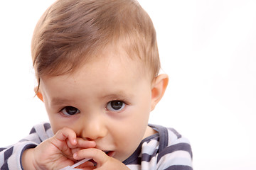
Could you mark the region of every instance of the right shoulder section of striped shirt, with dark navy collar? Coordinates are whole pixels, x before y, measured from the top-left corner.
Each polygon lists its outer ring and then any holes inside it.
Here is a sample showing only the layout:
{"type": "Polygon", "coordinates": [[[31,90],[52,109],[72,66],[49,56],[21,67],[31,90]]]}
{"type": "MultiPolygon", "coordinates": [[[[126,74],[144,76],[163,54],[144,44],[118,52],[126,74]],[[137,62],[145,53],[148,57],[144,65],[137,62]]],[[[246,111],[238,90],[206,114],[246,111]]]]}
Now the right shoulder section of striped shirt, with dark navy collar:
{"type": "Polygon", "coordinates": [[[142,140],[124,164],[130,169],[192,169],[191,145],[174,128],[149,125],[156,134],[142,140]]]}

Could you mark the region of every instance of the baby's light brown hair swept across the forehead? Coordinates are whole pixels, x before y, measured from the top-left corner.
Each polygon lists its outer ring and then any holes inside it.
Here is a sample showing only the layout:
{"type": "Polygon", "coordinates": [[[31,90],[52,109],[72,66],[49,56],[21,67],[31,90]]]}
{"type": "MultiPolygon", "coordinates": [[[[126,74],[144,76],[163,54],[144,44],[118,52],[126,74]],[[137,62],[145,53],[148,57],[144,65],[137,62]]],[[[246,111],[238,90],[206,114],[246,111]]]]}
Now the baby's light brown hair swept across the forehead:
{"type": "Polygon", "coordinates": [[[151,19],[135,0],[58,0],[38,21],[31,54],[38,79],[73,72],[107,47],[139,59],[156,77],[160,62],[151,19]]]}

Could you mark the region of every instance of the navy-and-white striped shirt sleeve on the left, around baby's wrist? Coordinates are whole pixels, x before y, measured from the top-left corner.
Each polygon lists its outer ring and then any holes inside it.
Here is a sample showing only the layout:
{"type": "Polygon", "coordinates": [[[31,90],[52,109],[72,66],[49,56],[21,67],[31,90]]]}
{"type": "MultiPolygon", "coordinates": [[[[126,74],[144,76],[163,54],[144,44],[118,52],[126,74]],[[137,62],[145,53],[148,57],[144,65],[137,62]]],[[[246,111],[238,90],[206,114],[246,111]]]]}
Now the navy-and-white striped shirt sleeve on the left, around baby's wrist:
{"type": "Polygon", "coordinates": [[[26,149],[34,148],[43,140],[53,136],[49,123],[42,123],[32,128],[30,134],[15,145],[0,148],[0,170],[23,169],[21,155],[26,149]]]}

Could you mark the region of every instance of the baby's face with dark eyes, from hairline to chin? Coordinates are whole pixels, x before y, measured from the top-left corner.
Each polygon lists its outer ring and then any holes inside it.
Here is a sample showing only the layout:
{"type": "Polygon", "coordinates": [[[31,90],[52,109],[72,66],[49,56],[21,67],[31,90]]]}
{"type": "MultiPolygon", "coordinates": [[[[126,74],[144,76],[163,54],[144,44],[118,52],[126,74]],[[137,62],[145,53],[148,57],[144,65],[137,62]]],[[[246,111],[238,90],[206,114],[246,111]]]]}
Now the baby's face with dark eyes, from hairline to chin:
{"type": "Polygon", "coordinates": [[[151,79],[125,57],[104,56],[77,72],[42,77],[41,93],[53,128],[70,128],[124,161],[146,137],[151,79]]]}

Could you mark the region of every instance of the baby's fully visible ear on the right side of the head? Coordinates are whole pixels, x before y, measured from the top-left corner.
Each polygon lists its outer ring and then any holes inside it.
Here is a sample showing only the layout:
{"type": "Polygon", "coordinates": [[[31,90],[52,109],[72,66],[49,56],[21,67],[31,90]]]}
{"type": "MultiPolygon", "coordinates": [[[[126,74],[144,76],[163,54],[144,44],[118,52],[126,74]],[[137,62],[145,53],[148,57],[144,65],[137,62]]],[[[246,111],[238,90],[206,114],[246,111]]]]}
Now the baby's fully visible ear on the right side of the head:
{"type": "Polygon", "coordinates": [[[151,111],[154,110],[156,104],[159,103],[164,96],[168,81],[169,78],[167,74],[160,74],[154,79],[151,87],[151,111]]]}

